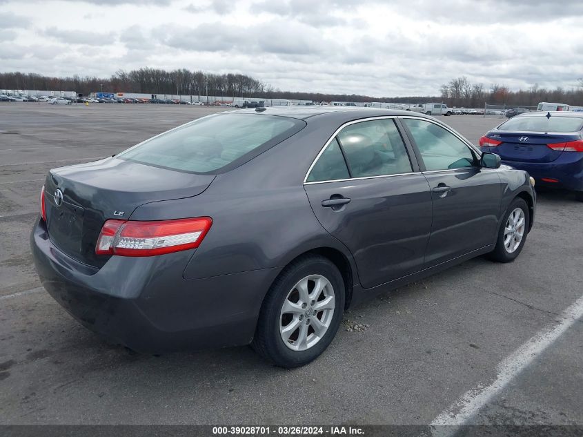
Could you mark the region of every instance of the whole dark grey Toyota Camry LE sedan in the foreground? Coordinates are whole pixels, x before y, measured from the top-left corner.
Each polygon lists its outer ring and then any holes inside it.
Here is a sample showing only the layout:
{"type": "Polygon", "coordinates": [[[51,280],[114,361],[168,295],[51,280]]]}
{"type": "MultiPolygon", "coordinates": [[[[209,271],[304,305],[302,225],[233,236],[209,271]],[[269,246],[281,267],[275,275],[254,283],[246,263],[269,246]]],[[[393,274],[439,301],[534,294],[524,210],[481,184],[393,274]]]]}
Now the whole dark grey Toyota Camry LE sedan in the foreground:
{"type": "Polygon", "coordinates": [[[106,338],[153,353],[253,342],[298,367],[365,298],[478,255],[514,260],[535,205],[525,171],[433,117],[282,106],[52,169],[30,244],[47,291],[106,338]]]}

